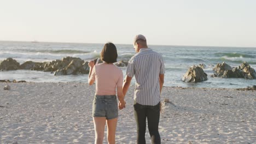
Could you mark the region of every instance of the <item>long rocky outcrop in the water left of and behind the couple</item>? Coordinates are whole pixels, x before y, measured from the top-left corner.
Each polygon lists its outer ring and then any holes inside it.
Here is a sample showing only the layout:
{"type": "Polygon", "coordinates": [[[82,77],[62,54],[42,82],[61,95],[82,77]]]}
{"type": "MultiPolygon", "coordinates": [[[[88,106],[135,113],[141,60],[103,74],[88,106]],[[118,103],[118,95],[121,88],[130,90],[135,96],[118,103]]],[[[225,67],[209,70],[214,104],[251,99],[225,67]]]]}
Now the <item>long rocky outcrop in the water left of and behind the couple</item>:
{"type": "MultiPolygon", "coordinates": [[[[93,60],[98,64],[103,63],[100,58],[93,60]]],[[[23,64],[19,64],[12,58],[4,60],[0,64],[0,70],[16,70],[16,69],[26,69],[26,70],[42,70],[54,73],[54,75],[78,75],[78,74],[89,74],[89,62],[76,57],[64,57],[61,60],[57,59],[51,62],[32,62],[27,61],[23,64]]],[[[119,67],[126,67],[128,62],[120,61],[119,67]]]]}

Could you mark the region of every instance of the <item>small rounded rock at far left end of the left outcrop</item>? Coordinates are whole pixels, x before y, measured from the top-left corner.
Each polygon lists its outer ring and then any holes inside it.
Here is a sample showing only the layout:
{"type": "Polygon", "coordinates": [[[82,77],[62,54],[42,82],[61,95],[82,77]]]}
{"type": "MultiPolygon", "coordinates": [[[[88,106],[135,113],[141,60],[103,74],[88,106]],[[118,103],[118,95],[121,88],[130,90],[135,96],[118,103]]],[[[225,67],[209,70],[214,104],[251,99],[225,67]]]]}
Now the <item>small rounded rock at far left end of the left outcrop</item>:
{"type": "Polygon", "coordinates": [[[0,71],[18,70],[19,68],[20,68],[20,63],[18,63],[13,58],[7,58],[6,60],[0,63],[0,71]]]}

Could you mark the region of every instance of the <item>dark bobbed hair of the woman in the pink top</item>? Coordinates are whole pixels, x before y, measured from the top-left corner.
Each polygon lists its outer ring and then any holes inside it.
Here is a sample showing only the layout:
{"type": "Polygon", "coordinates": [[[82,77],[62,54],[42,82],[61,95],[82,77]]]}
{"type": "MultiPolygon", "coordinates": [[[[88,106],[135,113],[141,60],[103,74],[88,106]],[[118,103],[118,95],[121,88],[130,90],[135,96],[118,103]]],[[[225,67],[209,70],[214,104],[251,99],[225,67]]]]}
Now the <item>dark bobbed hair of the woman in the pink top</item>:
{"type": "Polygon", "coordinates": [[[115,63],[117,62],[117,57],[117,47],[113,43],[105,44],[101,51],[101,61],[115,63]]]}

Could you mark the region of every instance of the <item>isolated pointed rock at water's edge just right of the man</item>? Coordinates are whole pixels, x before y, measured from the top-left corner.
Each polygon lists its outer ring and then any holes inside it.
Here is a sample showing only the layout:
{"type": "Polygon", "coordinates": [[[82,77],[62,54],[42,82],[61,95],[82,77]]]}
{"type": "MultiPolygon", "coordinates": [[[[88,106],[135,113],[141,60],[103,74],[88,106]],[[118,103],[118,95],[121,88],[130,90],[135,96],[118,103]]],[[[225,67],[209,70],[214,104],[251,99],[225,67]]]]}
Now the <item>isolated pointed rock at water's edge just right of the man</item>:
{"type": "Polygon", "coordinates": [[[190,67],[185,75],[182,77],[184,82],[201,82],[207,80],[207,74],[201,67],[193,66],[190,67]]]}

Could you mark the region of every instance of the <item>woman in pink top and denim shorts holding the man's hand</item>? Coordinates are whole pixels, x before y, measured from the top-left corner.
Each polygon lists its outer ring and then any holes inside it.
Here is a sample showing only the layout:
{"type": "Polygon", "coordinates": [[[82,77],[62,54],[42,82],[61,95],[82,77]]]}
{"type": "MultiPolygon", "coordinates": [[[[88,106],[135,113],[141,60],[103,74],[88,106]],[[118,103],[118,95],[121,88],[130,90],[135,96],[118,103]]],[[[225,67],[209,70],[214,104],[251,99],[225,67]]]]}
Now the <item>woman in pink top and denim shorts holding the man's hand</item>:
{"type": "Polygon", "coordinates": [[[119,109],[125,107],[123,86],[123,71],[113,63],[117,62],[117,48],[112,43],[104,45],[101,51],[103,63],[89,62],[89,85],[96,81],[96,92],[92,104],[92,117],[94,118],[95,143],[102,143],[104,128],[107,122],[108,143],[115,143],[115,129],[118,121],[118,104],[115,96],[117,89],[119,109]]]}

